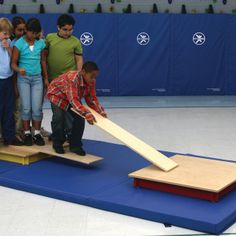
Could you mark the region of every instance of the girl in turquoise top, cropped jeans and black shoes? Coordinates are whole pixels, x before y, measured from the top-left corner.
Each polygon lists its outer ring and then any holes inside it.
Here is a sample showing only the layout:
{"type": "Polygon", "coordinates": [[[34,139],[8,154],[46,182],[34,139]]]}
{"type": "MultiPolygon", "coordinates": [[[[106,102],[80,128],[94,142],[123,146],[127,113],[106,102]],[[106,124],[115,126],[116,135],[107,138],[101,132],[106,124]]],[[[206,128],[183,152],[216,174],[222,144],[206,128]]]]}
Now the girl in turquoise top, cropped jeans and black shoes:
{"type": "Polygon", "coordinates": [[[40,22],[30,18],[26,23],[26,33],[15,43],[12,56],[12,68],[17,72],[17,87],[21,101],[21,119],[24,129],[24,144],[45,145],[40,133],[42,113],[43,85],[48,85],[45,43],[38,39],[42,31],[40,22]],[[43,74],[43,78],[42,75],[43,74]],[[30,132],[30,121],[34,135],[30,132]]]}

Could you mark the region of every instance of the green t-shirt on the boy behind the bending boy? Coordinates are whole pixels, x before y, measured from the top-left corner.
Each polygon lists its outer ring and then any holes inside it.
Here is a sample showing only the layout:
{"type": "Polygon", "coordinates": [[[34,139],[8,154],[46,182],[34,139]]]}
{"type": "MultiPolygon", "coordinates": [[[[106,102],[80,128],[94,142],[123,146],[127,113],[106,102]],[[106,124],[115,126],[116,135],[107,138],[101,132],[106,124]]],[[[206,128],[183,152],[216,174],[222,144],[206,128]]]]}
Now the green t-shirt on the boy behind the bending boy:
{"type": "Polygon", "coordinates": [[[70,36],[64,39],[57,33],[46,37],[48,50],[49,81],[70,70],[76,70],[75,55],[82,55],[82,45],[78,38],[70,36]]]}

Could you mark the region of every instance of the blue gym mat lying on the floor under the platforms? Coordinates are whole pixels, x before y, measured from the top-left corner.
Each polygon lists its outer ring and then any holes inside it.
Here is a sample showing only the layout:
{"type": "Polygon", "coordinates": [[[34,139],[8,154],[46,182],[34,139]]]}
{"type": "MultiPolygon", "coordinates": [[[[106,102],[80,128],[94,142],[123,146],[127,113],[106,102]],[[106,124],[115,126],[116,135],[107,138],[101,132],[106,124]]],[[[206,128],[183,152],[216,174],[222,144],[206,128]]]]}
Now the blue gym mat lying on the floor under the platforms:
{"type": "MultiPolygon", "coordinates": [[[[197,231],[219,234],[236,222],[236,191],[220,202],[134,188],[128,174],[150,163],[123,145],[85,140],[93,166],[51,158],[0,172],[0,185],[197,231]]],[[[163,152],[167,156],[175,153],[163,152]]],[[[3,162],[0,162],[0,169],[3,162]]]]}

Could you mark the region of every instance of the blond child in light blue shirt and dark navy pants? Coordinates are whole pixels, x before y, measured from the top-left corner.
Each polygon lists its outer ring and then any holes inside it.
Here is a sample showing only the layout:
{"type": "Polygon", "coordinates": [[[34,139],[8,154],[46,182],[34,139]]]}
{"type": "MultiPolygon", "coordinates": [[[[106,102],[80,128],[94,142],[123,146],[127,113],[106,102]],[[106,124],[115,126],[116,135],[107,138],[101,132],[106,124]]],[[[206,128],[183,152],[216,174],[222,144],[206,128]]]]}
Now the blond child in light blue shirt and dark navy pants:
{"type": "Polygon", "coordinates": [[[0,18],[0,125],[5,145],[21,145],[15,137],[14,108],[15,96],[12,83],[12,70],[10,67],[12,49],[9,39],[12,24],[6,18],[0,18]]]}

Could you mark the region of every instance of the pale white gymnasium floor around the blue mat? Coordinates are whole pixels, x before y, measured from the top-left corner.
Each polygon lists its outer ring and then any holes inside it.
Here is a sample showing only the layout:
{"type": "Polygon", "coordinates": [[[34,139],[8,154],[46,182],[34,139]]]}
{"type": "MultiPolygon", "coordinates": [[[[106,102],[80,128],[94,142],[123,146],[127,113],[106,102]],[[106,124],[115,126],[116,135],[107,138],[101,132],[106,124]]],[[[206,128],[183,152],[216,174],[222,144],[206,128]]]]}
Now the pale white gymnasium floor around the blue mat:
{"type": "MultiPolygon", "coordinates": [[[[236,161],[236,97],[101,98],[109,118],[159,150],[236,161]]],[[[43,126],[50,130],[45,104],[43,126]]],[[[84,138],[119,143],[95,126],[84,138]]],[[[206,235],[0,187],[1,236],[206,235]]],[[[225,235],[236,235],[236,224],[225,235]]]]}

